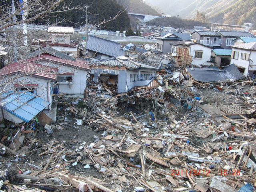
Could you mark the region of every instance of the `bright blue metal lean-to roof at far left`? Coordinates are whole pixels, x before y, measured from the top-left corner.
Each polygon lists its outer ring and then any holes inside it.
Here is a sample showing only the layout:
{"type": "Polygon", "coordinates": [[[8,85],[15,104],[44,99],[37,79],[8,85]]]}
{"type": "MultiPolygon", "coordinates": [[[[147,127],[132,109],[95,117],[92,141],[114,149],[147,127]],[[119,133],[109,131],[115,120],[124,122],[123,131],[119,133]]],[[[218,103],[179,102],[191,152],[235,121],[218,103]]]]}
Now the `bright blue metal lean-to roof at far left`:
{"type": "Polygon", "coordinates": [[[50,103],[32,95],[30,92],[11,93],[2,95],[1,107],[20,118],[29,122],[50,103]]]}

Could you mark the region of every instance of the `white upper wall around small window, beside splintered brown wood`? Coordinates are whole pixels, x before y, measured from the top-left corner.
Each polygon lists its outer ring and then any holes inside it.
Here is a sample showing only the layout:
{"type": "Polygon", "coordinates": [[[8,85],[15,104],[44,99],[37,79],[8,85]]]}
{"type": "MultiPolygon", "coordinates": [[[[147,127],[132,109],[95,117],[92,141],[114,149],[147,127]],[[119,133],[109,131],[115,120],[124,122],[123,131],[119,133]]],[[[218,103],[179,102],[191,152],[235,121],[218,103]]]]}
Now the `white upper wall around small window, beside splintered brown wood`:
{"type": "Polygon", "coordinates": [[[212,49],[200,44],[194,44],[188,47],[189,53],[192,56],[191,65],[206,65],[210,66],[212,63],[210,61],[212,49]],[[202,58],[194,58],[196,51],[202,51],[202,58]]]}

